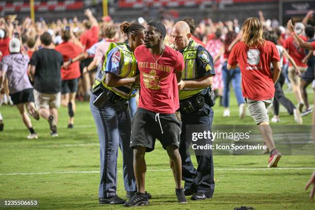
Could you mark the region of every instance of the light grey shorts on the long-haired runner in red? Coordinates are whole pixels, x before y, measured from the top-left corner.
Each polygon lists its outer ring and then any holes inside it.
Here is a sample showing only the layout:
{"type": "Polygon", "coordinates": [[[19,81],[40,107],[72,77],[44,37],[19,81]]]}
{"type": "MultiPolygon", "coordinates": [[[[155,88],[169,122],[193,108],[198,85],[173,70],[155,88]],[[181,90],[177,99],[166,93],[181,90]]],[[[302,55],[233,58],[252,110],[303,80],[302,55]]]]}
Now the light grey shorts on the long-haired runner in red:
{"type": "Polygon", "coordinates": [[[273,98],[259,101],[247,98],[246,101],[250,114],[254,118],[257,125],[259,125],[261,122],[269,121],[267,108],[272,103],[273,98]]]}

